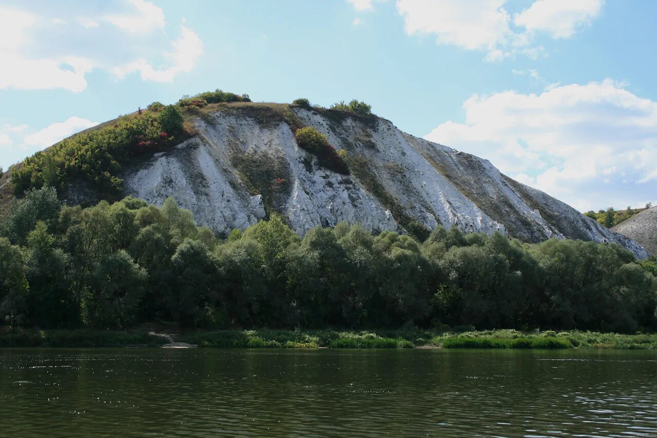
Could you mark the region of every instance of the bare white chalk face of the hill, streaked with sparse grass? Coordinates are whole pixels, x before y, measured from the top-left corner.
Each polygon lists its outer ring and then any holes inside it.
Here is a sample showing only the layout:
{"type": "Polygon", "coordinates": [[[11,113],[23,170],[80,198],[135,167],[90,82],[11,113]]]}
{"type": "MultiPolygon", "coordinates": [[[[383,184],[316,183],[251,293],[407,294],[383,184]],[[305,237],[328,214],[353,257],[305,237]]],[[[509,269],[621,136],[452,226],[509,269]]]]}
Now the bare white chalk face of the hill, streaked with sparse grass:
{"type": "Polygon", "coordinates": [[[523,241],[570,237],[636,242],[574,208],[502,175],[487,160],[413,137],[375,116],[291,107],[285,116],[254,109],[196,120],[196,137],[125,171],[125,193],[162,205],[171,196],[218,233],[244,229],[277,211],[303,235],[346,221],[371,231],[457,226],[523,241]],[[350,175],[323,168],[294,139],[313,126],[346,151],[350,175]]]}

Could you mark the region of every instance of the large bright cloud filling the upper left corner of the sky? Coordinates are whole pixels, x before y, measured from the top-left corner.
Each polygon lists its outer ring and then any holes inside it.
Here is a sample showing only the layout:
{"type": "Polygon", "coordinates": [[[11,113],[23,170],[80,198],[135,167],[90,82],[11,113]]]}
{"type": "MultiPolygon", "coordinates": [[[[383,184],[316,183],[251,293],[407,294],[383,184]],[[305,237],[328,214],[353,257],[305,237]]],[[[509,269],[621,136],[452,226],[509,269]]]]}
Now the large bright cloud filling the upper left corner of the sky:
{"type": "Polygon", "coordinates": [[[137,71],[143,80],[171,82],[177,74],[192,70],[202,53],[198,35],[188,27],[183,26],[175,41],[164,32],[154,32],[166,22],[162,9],[148,1],[122,0],[102,8],[107,11],[99,14],[98,21],[80,11],[71,17],[71,23],[79,26],[62,26],[58,18],[0,6],[0,89],[79,92],[86,89],[85,76],[93,69],[115,71],[119,77],[137,71]],[[112,14],[120,5],[127,10],[112,14]],[[49,47],[51,39],[57,45],[49,47]],[[89,50],[89,45],[102,47],[108,40],[117,43],[107,46],[109,50],[89,50]]]}

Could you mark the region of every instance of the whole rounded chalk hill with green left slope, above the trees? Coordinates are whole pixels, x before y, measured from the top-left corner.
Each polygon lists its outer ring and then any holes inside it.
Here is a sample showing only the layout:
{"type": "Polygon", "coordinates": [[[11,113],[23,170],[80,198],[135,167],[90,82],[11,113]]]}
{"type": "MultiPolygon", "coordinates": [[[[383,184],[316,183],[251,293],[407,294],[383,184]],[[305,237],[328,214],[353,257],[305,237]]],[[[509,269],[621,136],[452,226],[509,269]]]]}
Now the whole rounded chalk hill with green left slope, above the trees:
{"type": "Polygon", "coordinates": [[[299,235],[346,221],[421,241],[442,225],[530,243],[606,239],[647,256],[489,161],[401,132],[357,101],[326,109],[305,99],[253,103],[246,95],[201,93],[91,128],[7,174],[4,205],[11,191],[20,196],[41,185],[55,185],[74,205],[125,195],[163,205],[173,197],[218,235],[278,212],[299,235]],[[175,118],[166,129],[165,112],[175,118]]]}

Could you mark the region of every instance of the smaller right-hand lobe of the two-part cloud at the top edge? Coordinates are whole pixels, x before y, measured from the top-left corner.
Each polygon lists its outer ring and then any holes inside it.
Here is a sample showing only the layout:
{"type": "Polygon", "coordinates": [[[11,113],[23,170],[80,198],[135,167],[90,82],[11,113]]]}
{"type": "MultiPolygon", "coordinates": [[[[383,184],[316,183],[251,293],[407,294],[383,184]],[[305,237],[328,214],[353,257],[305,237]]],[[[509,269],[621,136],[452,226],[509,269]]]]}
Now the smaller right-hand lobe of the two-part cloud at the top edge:
{"type": "Polygon", "coordinates": [[[514,23],[530,31],[549,32],[553,38],[568,38],[600,16],[602,3],[602,0],[536,0],[514,16],[514,23]]]}

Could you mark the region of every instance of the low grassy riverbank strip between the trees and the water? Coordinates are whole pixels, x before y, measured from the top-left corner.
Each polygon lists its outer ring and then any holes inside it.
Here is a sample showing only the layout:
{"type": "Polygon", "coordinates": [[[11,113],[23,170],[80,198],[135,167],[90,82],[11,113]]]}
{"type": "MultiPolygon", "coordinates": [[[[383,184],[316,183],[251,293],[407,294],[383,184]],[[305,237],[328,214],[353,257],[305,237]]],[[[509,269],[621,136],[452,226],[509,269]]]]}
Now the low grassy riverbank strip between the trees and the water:
{"type": "Polygon", "coordinates": [[[158,333],[133,331],[12,329],[0,347],[165,347],[171,343],[216,348],[443,348],[443,349],[657,349],[657,333],[624,335],[591,331],[487,330],[217,330],[158,333]]]}

